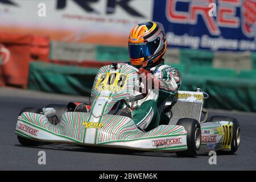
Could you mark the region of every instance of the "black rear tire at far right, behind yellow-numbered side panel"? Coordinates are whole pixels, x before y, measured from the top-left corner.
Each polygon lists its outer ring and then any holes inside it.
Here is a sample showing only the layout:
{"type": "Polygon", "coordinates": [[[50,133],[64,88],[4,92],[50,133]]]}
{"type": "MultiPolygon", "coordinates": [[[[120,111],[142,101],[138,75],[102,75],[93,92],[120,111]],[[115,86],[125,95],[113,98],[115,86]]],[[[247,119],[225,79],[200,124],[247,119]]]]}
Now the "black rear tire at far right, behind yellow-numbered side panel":
{"type": "Polygon", "coordinates": [[[217,154],[222,154],[222,155],[225,155],[225,154],[232,155],[237,151],[238,147],[240,146],[240,135],[241,135],[240,125],[236,118],[226,117],[223,115],[213,115],[212,117],[210,117],[208,122],[220,122],[220,121],[233,122],[233,136],[232,136],[230,151],[219,150],[216,152],[217,152],[217,154]]]}

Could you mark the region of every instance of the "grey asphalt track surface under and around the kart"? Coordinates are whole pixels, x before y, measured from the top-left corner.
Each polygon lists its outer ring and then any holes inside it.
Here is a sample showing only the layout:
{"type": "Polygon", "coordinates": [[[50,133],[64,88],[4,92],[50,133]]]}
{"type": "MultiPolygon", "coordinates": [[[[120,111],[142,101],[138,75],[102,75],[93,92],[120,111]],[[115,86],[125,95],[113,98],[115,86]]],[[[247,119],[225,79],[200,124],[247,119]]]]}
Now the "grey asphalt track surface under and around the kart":
{"type": "Polygon", "coordinates": [[[178,158],[172,153],[140,152],[114,148],[80,147],[68,144],[21,146],[14,134],[19,111],[26,106],[67,104],[72,97],[46,97],[0,89],[0,169],[1,170],[255,170],[256,113],[210,110],[209,115],[236,117],[241,126],[241,145],[235,155],[218,155],[217,164],[208,155],[178,158]],[[26,96],[25,96],[26,95],[26,96]],[[46,152],[46,165],[38,164],[38,152],[46,152]]]}

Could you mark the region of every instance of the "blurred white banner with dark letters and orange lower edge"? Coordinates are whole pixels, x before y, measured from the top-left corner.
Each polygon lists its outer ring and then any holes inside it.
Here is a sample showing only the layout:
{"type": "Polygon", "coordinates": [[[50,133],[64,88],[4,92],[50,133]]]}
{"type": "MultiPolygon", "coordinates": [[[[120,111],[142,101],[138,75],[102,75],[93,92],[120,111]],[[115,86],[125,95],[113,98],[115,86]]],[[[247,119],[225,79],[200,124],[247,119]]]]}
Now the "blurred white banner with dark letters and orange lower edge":
{"type": "Polygon", "coordinates": [[[153,0],[0,0],[0,30],[63,42],[127,46],[131,28],[152,19],[153,0]]]}

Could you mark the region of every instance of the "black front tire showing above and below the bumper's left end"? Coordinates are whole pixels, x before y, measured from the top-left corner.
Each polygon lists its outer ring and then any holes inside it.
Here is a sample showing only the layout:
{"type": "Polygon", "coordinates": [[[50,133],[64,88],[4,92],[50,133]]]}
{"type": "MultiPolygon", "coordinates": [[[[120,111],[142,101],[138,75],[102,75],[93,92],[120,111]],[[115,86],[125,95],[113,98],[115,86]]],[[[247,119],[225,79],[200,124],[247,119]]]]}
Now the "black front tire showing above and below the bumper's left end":
{"type": "MultiPolygon", "coordinates": [[[[19,116],[24,112],[40,114],[42,112],[42,109],[38,109],[36,107],[25,107],[24,109],[22,109],[20,111],[19,116]]],[[[19,135],[17,135],[17,138],[19,140],[19,143],[22,144],[23,146],[39,146],[39,144],[41,143],[41,142],[36,141],[36,140],[31,140],[31,139],[21,137],[19,135]]]]}

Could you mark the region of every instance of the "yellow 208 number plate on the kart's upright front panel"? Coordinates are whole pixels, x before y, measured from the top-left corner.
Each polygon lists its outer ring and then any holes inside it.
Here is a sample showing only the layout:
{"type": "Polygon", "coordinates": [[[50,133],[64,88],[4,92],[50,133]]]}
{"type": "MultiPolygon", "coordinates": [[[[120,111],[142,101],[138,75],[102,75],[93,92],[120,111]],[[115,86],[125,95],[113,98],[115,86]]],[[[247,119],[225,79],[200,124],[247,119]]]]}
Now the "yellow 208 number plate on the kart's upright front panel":
{"type": "Polygon", "coordinates": [[[118,91],[124,88],[128,76],[122,73],[104,73],[98,77],[96,89],[118,91]]]}

